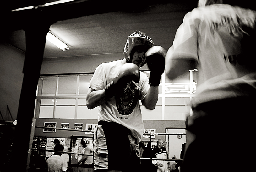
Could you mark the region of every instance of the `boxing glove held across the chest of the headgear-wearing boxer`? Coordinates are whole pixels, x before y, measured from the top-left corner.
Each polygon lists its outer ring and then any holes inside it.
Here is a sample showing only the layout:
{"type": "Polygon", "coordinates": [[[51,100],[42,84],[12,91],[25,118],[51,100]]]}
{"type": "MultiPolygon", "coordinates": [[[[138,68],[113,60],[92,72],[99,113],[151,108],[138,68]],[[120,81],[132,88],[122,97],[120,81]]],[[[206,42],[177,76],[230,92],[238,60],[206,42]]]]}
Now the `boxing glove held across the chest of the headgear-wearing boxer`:
{"type": "Polygon", "coordinates": [[[118,91],[122,90],[129,81],[139,83],[139,78],[138,66],[133,63],[125,63],[121,67],[119,74],[104,88],[105,96],[107,98],[113,97],[118,91]]]}

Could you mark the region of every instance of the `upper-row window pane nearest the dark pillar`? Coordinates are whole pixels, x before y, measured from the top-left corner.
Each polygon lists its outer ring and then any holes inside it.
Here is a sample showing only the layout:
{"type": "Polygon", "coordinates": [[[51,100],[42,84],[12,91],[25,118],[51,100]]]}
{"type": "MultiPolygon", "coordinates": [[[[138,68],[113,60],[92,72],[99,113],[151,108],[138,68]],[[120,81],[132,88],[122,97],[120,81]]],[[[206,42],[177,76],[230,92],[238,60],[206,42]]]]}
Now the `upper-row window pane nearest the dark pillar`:
{"type": "Polygon", "coordinates": [[[43,78],[42,96],[54,96],[56,91],[57,77],[43,78]]]}

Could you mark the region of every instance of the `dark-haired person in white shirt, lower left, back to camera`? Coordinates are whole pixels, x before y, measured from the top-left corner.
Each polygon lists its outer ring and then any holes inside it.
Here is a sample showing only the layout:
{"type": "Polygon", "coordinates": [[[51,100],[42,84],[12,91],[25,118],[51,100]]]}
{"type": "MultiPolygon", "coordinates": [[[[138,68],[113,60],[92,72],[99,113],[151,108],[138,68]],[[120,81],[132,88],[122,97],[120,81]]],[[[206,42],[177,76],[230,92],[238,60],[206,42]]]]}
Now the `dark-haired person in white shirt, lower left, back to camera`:
{"type": "Polygon", "coordinates": [[[46,160],[46,168],[48,172],[63,172],[64,161],[61,158],[60,152],[63,152],[63,145],[56,144],[53,148],[54,154],[46,160]]]}

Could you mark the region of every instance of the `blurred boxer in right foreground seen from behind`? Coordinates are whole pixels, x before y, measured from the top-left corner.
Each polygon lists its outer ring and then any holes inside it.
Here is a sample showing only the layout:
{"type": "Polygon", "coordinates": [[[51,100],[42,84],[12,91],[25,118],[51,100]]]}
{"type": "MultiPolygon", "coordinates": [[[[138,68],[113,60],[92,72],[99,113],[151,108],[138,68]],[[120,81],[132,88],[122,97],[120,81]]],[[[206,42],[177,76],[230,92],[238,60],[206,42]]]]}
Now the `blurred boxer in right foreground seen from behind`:
{"type": "Polygon", "coordinates": [[[166,54],[166,74],[175,79],[198,69],[199,75],[190,103],[193,115],[186,121],[182,172],[253,168],[246,150],[251,139],[245,135],[254,131],[256,114],[255,18],[254,10],[234,1],[231,6],[199,0],[177,29],[166,54]]]}

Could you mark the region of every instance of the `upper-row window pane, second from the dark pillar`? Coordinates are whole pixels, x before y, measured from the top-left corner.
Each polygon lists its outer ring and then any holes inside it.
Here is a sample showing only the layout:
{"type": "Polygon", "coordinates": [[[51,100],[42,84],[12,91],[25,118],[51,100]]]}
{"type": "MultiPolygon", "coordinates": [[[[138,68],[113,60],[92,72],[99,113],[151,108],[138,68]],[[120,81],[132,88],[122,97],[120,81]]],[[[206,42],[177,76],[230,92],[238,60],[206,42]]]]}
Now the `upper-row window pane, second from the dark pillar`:
{"type": "Polygon", "coordinates": [[[75,95],[77,76],[59,77],[58,95],[75,95]]]}

